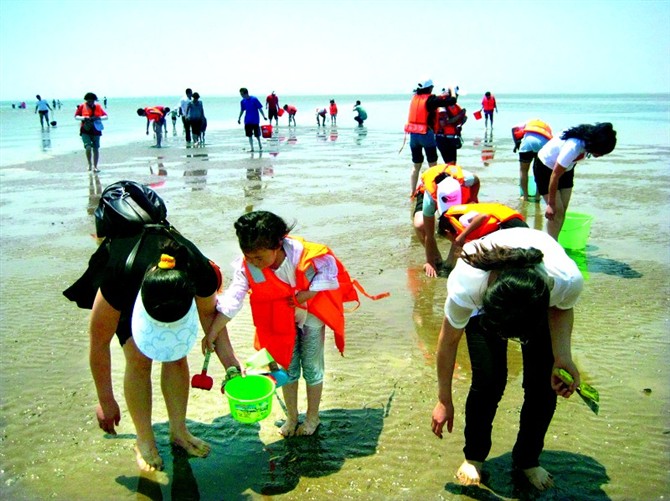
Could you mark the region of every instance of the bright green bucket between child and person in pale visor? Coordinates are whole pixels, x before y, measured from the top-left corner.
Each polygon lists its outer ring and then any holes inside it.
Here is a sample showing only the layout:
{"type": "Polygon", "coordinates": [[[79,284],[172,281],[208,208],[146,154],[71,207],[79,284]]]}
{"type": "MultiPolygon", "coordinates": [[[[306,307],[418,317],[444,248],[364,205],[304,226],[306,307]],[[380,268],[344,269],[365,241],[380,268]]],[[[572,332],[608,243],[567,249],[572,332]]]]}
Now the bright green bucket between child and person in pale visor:
{"type": "Polygon", "coordinates": [[[275,383],[267,376],[250,374],[226,383],[230,414],[240,423],[255,423],[272,411],[275,383]]]}

